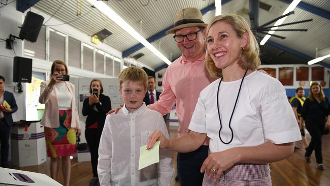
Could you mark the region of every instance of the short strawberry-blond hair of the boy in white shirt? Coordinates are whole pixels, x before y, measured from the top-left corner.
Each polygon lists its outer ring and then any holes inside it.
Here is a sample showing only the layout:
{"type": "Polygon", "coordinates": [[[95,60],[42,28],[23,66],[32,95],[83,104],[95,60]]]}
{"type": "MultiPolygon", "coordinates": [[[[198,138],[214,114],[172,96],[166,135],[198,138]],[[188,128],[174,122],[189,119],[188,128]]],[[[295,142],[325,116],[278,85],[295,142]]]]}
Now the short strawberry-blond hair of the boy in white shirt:
{"type": "Polygon", "coordinates": [[[139,67],[128,67],[121,71],[118,77],[119,87],[124,81],[132,81],[136,83],[141,83],[144,89],[147,89],[148,85],[148,75],[147,73],[139,67]]]}

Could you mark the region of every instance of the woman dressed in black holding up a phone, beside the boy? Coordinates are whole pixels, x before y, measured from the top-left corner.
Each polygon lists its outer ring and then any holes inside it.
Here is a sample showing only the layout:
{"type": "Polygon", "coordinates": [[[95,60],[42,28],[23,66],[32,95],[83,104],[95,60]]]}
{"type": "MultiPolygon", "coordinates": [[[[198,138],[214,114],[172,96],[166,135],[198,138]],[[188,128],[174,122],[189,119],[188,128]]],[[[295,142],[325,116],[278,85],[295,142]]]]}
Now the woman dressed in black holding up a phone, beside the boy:
{"type": "Polygon", "coordinates": [[[90,82],[89,93],[89,98],[84,100],[82,114],[87,116],[85,137],[91,156],[93,171],[93,178],[90,180],[89,185],[94,185],[98,182],[98,144],[100,143],[104,122],[107,116],[106,114],[111,110],[111,101],[108,96],[102,94],[103,86],[99,79],[93,79],[90,82]]]}

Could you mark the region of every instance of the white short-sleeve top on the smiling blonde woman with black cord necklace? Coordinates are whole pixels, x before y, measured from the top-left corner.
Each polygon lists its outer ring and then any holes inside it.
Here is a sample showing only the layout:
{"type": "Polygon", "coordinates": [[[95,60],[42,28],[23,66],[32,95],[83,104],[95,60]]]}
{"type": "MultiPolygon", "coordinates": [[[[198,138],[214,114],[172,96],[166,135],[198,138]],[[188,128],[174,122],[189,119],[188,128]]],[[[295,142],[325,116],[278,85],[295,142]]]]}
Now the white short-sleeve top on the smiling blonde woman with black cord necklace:
{"type": "MultiPolygon", "coordinates": [[[[219,111],[222,122],[221,139],[229,142],[228,127],[242,79],[221,82],[219,111]]],[[[301,140],[298,123],[287,100],[283,85],[275,78],[254,71],[244,78],[230,127],[234,138],[229,144],[219,139],[220,121],[217,110],[217,89],[220,79],[212,82],[200,94],[189,130],[206,133],[210,152],[239,146],[256,146],[271,141],[274,144],[301,140]]]]}

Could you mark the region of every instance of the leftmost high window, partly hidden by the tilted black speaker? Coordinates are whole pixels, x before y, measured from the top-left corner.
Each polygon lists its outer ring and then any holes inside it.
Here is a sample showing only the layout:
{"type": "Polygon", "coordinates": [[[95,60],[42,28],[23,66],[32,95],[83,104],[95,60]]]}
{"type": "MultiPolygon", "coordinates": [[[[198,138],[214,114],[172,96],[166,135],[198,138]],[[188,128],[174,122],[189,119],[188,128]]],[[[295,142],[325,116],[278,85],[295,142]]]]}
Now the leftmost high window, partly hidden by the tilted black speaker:
{"type": "Polygon", "coordinates": [[[37,42],[24,41],[24,55],[26,57],[46,59],[46,27],[41,27],[37,42]]]}

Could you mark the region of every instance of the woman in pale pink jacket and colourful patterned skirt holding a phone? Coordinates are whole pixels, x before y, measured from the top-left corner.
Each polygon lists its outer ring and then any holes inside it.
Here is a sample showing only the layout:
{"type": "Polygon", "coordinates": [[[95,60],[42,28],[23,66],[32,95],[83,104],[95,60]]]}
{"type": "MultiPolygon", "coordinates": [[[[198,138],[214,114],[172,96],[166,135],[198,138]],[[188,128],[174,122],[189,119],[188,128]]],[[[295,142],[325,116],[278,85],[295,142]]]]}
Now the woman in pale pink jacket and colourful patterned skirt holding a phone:
{"type": "Polygon", "coordinates": [[[57,179],[58,161],[62,159],[64,185],[70,183],[70,156],[77,152],[76,138],[81,135],[75,99],[75,85],[68,82],[67,65],[55,60],[51,66],[51,79],[40,85],[39,102],[46,104],[41,125],[45,126],[47,154],[50,157],[50,176],[57,179]]]}

